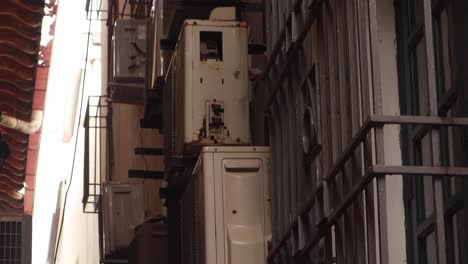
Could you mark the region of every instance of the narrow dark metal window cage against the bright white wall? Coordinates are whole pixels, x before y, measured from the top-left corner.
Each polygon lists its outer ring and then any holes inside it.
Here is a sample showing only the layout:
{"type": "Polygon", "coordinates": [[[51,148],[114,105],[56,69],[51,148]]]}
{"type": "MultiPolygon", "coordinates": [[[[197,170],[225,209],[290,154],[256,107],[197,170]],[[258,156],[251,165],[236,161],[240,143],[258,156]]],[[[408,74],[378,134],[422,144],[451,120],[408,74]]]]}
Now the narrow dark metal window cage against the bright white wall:
{"type": "Polygon", "coordinates": [[[112,123],[106,96],[90,96],[84,119],[83,212],[100,211],[101,183],[112,174],[110,133],[112,123]]]}

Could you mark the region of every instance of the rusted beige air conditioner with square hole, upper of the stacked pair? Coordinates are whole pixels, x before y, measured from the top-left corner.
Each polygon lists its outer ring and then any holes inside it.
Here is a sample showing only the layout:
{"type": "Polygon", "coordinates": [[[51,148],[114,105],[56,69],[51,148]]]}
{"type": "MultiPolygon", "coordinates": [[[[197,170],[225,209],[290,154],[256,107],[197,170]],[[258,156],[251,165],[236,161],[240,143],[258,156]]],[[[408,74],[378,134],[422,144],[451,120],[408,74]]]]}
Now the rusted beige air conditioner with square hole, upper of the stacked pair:
{"type": "Polygon", "coordinates": [[[171,155],[204,145],[249,144],[247,25],[186,20],[164,90],[171,155]]]}

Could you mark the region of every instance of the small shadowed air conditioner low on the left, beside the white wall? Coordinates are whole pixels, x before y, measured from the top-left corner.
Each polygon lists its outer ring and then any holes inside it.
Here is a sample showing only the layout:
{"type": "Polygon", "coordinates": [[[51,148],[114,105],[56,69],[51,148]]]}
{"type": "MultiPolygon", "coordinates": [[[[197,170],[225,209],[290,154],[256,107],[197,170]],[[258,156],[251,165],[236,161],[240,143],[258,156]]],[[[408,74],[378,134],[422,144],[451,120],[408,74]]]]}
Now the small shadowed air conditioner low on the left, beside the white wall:
{"type": "Polygon", "coordinates": [[[144,221],[143,184],[105,183],[102,194],[104,253],[126,255],[134,229],[144,221]]]}

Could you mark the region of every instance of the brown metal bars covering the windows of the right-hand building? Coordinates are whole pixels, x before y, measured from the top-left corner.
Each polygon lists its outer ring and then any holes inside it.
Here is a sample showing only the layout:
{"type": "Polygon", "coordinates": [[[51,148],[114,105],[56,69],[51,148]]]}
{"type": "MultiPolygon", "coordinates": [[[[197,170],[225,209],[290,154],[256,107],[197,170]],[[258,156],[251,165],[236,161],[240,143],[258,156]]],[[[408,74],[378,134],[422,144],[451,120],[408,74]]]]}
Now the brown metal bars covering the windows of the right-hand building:
{"type": "Polygon", "coordinates": [[[386,179],[392,175],[432,179],[437,263],[446,263],[442,176],[467,176],[468,168],[442,166],[439,131],[466,127],[468,118],[438,115],[432,8],[422,1],[425,116],[383,115],[376,0],[266,1],[272,39],[258,85],[270,93],[269,263],[389,263],[386,179]],[[314,110],[317,144],[303,154],[298,131],[306,108],[314,110]],[[419,127],[430,138],[430,164],[385,164],[384,128],[394,125],[419,127]]]}

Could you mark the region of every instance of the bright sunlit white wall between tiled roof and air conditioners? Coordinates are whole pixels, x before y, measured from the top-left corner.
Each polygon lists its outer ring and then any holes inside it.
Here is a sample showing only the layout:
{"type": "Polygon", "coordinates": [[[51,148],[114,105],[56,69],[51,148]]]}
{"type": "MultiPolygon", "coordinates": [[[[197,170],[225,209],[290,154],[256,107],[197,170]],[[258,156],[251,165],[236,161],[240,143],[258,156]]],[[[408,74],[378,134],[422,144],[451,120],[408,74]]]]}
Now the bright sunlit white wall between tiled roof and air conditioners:
{"type": "MultiPolygon", "coordinates": [[[[57,207],[57,189],[65,182],[62,197],[70,186],[60,254],[57,263],[98,263],[97,215],[82,213],[83,189],[83,126],[80,125],[75,174],[70,179],[75,137],[63,141],[64,133],[72,136],[74,88],[81,87],[77,72],[84,66],[88,21],[85,1],[61,0],[57,14],[54,47],[51,59],[42,142],[37,171],[35,211],[33,215],[33,264],[47,260],[52,214],[57,207]],[[68,114],[67,114],[68,113],[68,114]]],[[[90,47],[85,96],[100,93],[100,48],[90,47]]],[[[84,102],[86,103],[86,99],[84,102]]],[[[78,118],[77,118],[78,119],[78,118]]],[[[59,198],[60,199],[60,198],[59,198]]],[[[63,201],[63,200],[61,200],[63,201]]],[[[63,203],[60,202],[59,204],[63,203]]],[[[59,212],[61,214],[61,211],[59,212]]]]}

